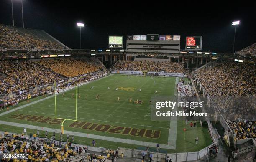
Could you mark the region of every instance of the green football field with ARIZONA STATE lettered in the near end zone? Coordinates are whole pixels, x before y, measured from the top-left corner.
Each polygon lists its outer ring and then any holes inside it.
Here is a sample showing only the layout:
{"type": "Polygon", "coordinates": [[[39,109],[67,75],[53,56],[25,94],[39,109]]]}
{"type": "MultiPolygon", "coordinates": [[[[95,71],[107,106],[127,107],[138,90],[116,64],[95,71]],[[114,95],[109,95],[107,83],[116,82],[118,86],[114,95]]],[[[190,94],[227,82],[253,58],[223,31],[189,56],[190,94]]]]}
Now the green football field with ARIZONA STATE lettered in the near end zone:
{"type": "MultiPolygon", "coordinates": [[[[77,122],[71,120],[64,122],[64,133],[65,131],[76,133],[75,143],[92,145],[91,141],[95,139],[96,147],[144,149],[143,142],[148,142],[154,147],[157,143],[160,147],[161,145],[174,146],[174,149],[167,147],[161,149],[162,152],[198,151],[212,143],[207,128],[197,124],[195,130],[190,130],[182,120],[178,120],[177,127],[173,128],[170,128],[170,121],[151,121],[149,100],[153,96],[174,95],[175,81],[178,79],[149,76],[129,76],[128,78],[127,75],[121,74],[107,76],[58,94],[56,99],[54,96],[47,98],[40,96],[30,99],[29,102],[23,101],[18,105],[25,105],[22,109],[0,116],[0,121],[18,124],[10,126],[2,123],[0,130],[21,133],[23,124],[28,124],[37,126],[33,128],[39,129],[39,136],[44,137],[45,127],[60,129],[63,119],[77,119],[77,122]],[[74,94],[73,97],[72,94],[74,94]],[[99,95],[98,99],[96,99],[97,95],[99,95]],[[132,101],[129,101],[130,97],[132,101]],[[134,103],[136,100],[139,103],[134,103]],[[33,101],[38,102],[33,104],[33,101]],[[61,119],[56,119],[56,116],[61,119]],[[184,128],[187,131],[184,131],[184,128]],[[98,135],[97,138],[94,135],[98,135]],[[200,140],[198,145],[195,145],[196,136],[200,140]],[[168,138],[173,138],[171,141],[176,143],[169,144],[168,138]]],[[[28,132],[36,132],[36,130],[28,127],[28,132]]],[[[50,132],[48,137],[51,138],[50,132]]],[[[56,139],[59,139],[58,134],[56,139]]],[[[153,151],[154,147],[151,147],[153,151]]]]}

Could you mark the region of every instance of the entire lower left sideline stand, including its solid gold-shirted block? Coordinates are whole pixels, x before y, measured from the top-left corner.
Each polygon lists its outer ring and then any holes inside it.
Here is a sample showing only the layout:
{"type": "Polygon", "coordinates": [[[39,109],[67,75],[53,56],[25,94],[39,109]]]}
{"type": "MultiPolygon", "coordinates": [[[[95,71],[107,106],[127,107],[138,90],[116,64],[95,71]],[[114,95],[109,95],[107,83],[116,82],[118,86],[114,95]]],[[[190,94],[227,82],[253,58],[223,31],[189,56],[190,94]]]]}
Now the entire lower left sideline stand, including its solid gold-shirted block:
{"type": "Polygon", "coordinates": [[[0,94],[11,93],[53,83],[67,77],[104,71],[99,63],[74,58],[44,59],[40,61],[0,61],[0,94]]]}

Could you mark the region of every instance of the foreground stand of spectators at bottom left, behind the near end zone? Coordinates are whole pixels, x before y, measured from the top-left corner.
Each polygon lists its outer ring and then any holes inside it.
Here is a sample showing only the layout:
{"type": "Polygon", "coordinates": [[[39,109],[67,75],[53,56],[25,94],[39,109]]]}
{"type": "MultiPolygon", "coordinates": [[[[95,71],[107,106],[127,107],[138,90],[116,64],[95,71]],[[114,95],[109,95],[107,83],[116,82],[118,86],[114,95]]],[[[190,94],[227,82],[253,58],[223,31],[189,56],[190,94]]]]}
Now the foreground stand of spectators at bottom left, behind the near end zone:
{"type": "MultiPolygon", "coordinates": [[[[113,150],[106,149],[105,154],[87,152],[86,146],[62,142],[41,137],[29,137],[24,134],[0,134],[0,154],[25,154],[25,161],[32,162],[105,162],[107,157],[116,158],[113,150]]],[[[0,159],[2,160],[2,159],[0,159]]],[[[3,159],[4,160],[4,159],[3,159]]],[[[18,159],[10,159],[19,162],[18,159]]],[[[20,160],[22,161],[22,160],[20,160]]]]}

